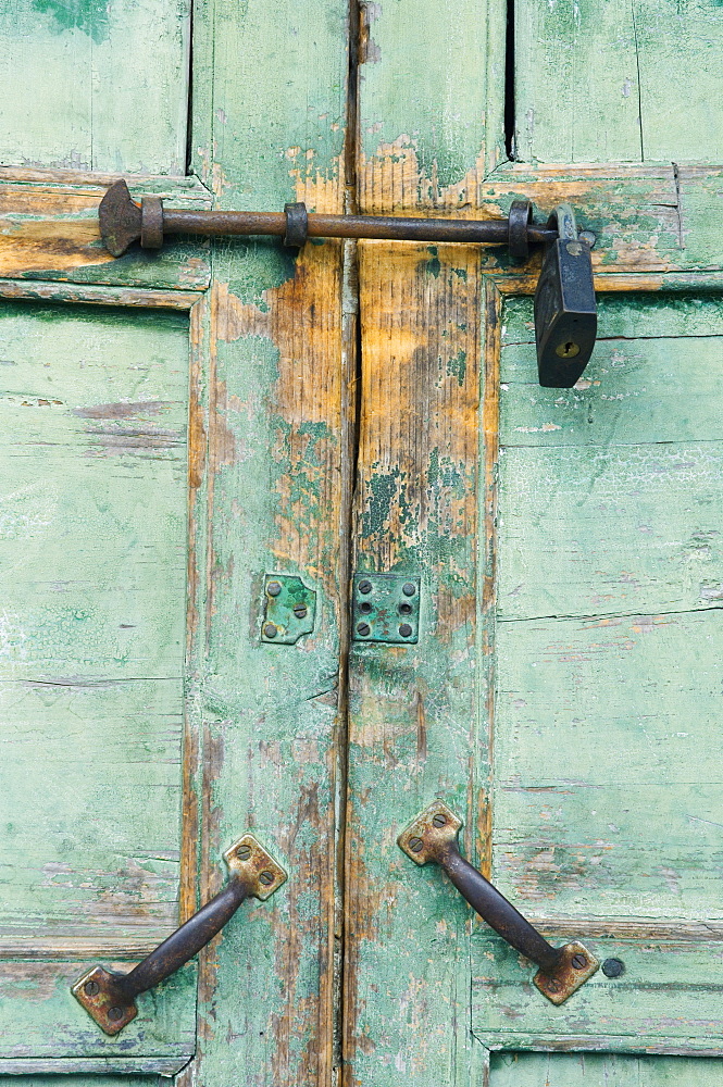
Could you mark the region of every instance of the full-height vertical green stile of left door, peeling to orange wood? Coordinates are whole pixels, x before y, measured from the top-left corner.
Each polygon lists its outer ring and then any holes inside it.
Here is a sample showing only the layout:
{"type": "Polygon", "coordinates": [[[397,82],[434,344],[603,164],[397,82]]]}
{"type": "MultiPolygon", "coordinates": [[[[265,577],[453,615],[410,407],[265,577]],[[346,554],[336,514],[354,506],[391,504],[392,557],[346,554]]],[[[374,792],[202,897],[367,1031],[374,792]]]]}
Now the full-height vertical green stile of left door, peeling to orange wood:
{"type": "MultiPolygon", "coordinates": [[[[281,0],[200,9],[194,154],[225,208],[345,201],[347,5],[281,0]]],[[[239,825],[288,867],[274,898],[202,960],[188,1082],[327,1087],[334,1053],[341,532],[342,247],[213,249],[195,325],[192,720],[202,728],[201,894],[239,825]],[[262,645],[263,574],[315,589],[316,626],[262,645]],[[242,1072],[239,1072],[242,1070],[242,1072]]]]}

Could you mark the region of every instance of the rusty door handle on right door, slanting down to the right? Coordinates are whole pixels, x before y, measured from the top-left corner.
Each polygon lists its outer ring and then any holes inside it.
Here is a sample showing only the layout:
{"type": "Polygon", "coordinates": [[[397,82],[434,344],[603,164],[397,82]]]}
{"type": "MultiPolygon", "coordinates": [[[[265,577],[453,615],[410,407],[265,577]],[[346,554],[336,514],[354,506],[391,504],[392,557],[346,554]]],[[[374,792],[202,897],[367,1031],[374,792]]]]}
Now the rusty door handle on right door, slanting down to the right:
{"type": "Polygon", "coordinates": [[[575,940],[553,948],[511,902],[465,861],[457,845],[462,821],[441,800],[425,808],[397,839],[400,849],[416,864],[432,861],[447,873],[460,895],[502,939],[539,971],[534,982],[553,1004],[561,1004],[591,977],[600,965],[594,954],[575,940]]]}

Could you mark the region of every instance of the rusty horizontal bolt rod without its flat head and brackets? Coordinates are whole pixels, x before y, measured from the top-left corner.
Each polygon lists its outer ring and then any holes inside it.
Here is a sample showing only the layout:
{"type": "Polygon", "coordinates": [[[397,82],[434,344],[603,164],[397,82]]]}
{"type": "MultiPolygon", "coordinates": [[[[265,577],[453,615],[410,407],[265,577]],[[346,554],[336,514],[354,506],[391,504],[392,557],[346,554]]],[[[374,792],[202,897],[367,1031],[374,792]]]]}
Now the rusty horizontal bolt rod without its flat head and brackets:
{"type": "MultiPolygon", "coordinates": [[[[310,238],[371,238],[387,241],[466,241],[504,246],[506,218],[449,220],[403,218],[396,215],[320,215],[310,213],[310,238]]],[[[283,212],[178,211],[163,210],[164,234],[276,235],[286,234],[283,212]]],[[[553,241],[558,232],[531,224],[527,240],[533,245],[553,241]]]]}

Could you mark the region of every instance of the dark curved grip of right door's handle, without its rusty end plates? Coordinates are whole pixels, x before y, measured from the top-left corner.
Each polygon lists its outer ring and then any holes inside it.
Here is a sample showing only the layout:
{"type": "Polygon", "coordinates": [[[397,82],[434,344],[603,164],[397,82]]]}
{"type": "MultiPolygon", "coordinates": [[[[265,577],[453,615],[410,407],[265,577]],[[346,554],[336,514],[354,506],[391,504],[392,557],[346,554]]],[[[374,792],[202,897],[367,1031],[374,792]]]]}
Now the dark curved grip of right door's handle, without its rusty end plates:
{"type": "Polygon", "coordinates": [[[456,841],[447,842],[435,860],[445,870],[460,895],[473,910],[483,917],[490,928],[522,951],[527,959],[536,962],[545,972],[551,972],[560,962],[563,948],[553,948],[545,937],[515,910],[511,902],[497,890],[482,872],[460,855],[456,841]]]}

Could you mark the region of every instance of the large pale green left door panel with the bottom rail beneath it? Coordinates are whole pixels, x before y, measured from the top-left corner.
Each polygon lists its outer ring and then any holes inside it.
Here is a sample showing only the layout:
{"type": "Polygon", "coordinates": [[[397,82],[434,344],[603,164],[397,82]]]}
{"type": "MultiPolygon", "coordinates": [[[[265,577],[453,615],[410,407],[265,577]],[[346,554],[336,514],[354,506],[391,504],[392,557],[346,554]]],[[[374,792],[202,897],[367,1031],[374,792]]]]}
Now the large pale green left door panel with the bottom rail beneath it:
{"type": "Polygon", "coordinates": [[[70,985],[178,924],[188,317],[5,301],[0,328],[0,1052],[182,1055],[192,967],[122,1049],[70,985]]]}

